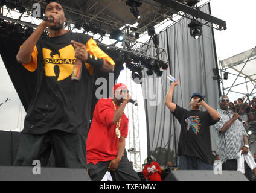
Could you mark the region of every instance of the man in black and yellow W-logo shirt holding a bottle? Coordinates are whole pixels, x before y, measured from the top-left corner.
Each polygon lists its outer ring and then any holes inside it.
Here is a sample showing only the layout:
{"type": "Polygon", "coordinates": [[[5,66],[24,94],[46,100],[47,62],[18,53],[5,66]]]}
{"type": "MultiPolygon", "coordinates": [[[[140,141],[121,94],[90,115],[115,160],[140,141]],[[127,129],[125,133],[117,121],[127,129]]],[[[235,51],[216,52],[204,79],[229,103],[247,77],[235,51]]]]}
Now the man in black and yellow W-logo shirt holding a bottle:
{"type": "Polygon", "coordinates": [[[66,18],[58,1],[46,4],[45,16],[54,21],[39,24],[16,56],[28,71],[37,71],[37,87],[14,165],[32,166],[40,160],[46,166],[53,149],[57,167],[87,168],[94,68],[111,72],[115,63],[88,35],[64,30],[66,18]],[[46,27],[49,37],[41,36],[46,27]],[[82,77],[72,81],[77,58],[82,60],[82,77]]]}

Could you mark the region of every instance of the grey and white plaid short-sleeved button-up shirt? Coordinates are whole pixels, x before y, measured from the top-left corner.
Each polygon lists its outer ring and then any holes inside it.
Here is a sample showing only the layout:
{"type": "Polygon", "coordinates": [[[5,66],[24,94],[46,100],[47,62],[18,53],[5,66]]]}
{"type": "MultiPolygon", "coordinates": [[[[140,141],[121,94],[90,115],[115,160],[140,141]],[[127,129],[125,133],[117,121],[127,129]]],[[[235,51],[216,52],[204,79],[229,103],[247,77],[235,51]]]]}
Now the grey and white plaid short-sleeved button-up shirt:
{"type": "Polygon", "coordinates": [[[216,131],[216,145],[222,163],[230,159],[238,159],[239,150],[243,147],[243,135],[247,136],[245,127],[238,119],[224,133],[220,133],[223,125],[228,122],[234,112],[218,109],[220,120],[214,125],[216,131]]]}

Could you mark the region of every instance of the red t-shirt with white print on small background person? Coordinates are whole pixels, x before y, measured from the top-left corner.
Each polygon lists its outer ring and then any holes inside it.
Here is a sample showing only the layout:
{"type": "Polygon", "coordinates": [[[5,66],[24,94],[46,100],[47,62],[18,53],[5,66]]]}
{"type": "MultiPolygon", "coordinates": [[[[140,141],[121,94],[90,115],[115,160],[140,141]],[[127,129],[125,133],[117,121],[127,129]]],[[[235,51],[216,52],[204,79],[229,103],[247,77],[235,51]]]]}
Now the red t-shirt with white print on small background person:
{"type": "Polygon", "coordinates": [[[147,179],[149,179],[149,181],[162,181],[161,176],[159,174],[159,172],[155,172],[153,174],[150,174],[149,176],[147,176],[147,174],[149,174],[150,171],[153,171],[154,169],[158,170],[160,173],[161,171],[161,167],[159,166],[158,163],[156,162],[151,162],[151,164],[148,164],[146,166],[144,166],[143,168],[143,175],[144,177],[147,179]]]}

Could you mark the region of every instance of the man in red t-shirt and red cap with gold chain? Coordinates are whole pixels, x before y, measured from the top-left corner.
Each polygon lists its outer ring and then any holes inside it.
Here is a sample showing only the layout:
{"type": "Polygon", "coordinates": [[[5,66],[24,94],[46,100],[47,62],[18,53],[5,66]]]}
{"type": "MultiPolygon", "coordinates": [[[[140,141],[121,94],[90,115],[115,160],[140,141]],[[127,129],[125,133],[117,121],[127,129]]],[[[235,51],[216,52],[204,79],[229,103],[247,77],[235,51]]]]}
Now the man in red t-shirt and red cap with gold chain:
{"type": "Polygon", "coordinates": [[[126,85],[117,83],[112,89],[114,98],[102,98],[94,109],[87,139],[88,174],[100,181],[107,171],[117,181],[140,180],[132,164],[123,155],[128,133],[124,108],[129,102],[126,85]]]}

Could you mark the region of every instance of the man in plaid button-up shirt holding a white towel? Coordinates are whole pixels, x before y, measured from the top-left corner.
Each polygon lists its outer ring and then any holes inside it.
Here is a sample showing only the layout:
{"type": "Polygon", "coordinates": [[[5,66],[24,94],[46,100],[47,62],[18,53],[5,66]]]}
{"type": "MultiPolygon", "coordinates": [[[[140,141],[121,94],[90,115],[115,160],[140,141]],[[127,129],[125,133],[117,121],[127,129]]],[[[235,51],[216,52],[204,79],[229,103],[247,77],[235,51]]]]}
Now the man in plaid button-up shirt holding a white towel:
{"type": "MultiPolygon", "coordinates": [[[[214,125],[216,129],[216,144],[219,151],[220,160],[222,161],[223,170],[237,170],[237,159],[239,151],[242,154],[248,154],[249,145],[245,127],[238,120],[238,113],[233,113],[228,110],[228,96],[221,96],[219,100],[220,109],[217,111],[220,114],[220,121],[214,125]]],[[[245,176],[252,180],[252,172],[245,162],[245,176]]]]}

